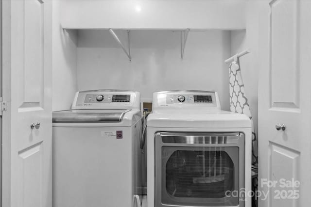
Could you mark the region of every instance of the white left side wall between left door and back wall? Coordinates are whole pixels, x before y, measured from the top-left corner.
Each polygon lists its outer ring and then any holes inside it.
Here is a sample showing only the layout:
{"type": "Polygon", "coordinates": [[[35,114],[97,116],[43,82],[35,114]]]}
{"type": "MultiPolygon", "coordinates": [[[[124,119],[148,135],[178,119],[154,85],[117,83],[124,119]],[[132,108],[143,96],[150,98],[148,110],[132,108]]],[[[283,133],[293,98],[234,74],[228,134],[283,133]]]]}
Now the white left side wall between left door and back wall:
{"type": "Polygon", "coordinates": [[[60,0],[53,0],[52,14],[52,110],[69,109],[76,87],[77,32],[60,25],[60,0]]]}

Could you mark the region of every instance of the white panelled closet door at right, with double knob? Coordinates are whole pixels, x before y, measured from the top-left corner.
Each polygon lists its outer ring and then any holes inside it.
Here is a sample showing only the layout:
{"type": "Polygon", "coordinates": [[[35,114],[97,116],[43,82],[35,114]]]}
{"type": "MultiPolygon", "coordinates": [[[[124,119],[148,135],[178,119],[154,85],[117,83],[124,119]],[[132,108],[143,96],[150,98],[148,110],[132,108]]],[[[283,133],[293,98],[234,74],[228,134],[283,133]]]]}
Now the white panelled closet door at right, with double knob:
{"type": "Polygon", "coordinates": [[[269,193],[267,199],[259,198],[259,207],[307,207],[311,202],[311,1],[263,4],[259,12],[259,190],[269,193]],[[284,124],[285,130],[276,130],[277,124],[284,124]]]}

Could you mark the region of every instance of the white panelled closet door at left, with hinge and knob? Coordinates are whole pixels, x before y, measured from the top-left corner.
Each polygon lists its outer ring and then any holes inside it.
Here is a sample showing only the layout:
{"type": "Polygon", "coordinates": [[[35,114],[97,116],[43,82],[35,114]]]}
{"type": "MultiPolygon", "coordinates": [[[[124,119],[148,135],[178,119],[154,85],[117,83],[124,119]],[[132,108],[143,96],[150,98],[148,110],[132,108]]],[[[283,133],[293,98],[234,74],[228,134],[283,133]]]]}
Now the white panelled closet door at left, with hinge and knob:
{"type": "Polygon", "coordinates": [[[4,0],[2,12],[2,206],[51,207],[52,1],[4,0]]]}

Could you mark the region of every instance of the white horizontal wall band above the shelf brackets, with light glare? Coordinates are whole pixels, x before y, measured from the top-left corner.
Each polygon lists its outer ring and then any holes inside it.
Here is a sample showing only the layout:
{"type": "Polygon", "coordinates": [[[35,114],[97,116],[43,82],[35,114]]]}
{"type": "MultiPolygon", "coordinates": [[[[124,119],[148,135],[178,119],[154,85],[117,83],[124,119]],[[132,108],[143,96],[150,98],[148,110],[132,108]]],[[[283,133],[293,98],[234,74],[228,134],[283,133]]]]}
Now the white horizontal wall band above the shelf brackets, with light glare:
{"type": "Polygon", "coordinates": [[[84,29],[245,29],[245,0],[62,0],[61,23],[84,29]]]}

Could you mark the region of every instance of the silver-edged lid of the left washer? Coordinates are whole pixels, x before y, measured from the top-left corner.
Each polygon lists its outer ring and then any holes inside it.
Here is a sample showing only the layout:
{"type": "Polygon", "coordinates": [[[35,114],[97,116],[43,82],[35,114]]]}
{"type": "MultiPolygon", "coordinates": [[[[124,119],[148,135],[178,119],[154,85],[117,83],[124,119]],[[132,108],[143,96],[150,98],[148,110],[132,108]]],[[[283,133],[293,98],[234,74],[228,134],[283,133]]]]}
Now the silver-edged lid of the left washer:
{"type": "Polygon", "coordinates": [[[126,112],[131,109],[118,110],[65,110],[53,111],[53,123],[107,123],[121,122],[126,112]]]}

